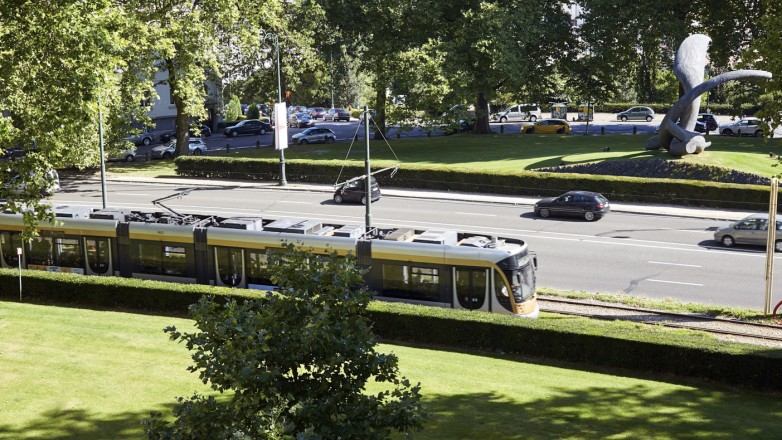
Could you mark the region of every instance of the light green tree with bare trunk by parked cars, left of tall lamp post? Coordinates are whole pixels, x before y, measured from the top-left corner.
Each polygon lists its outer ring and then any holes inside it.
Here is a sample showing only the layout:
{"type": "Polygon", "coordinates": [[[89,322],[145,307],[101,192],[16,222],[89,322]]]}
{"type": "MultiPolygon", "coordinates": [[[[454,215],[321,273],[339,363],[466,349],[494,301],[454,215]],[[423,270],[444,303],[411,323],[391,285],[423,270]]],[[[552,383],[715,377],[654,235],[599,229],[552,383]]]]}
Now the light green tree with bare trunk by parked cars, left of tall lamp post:
{"type": "Polygon", "coordinates": [[[262,30],[281,21],[280,2],[124,1],[143,23],[148,64],[165,72],[177,110],[177,154],[186,155],[190,120],[206,116],[205,82],[218,81],[235,66],[231,62],[248,61],[246,54],[258,52],[262,30]]]}

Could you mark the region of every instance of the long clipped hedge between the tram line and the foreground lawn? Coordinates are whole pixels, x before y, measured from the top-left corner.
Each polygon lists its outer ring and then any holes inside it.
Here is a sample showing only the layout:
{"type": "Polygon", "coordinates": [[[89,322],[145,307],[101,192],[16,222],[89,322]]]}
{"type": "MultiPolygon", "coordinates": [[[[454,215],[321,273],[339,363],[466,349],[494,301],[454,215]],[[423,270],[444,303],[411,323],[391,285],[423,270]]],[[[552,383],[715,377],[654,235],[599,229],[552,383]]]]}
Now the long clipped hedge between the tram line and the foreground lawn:
{"type": "MultiPolygon", "coordinates": [[[[262,292],[136,279],[25,271],[24,301],[99,309],[184,314],[203,294],[219,301],[262,292]]],[[[0,300],[18,301],[18,273],[0,269],[0,300]]],[[[386,340],[515,353],[782,390],[779,350],[634,323],[507,315],[373,302],[376,334],[386,340]]]]}

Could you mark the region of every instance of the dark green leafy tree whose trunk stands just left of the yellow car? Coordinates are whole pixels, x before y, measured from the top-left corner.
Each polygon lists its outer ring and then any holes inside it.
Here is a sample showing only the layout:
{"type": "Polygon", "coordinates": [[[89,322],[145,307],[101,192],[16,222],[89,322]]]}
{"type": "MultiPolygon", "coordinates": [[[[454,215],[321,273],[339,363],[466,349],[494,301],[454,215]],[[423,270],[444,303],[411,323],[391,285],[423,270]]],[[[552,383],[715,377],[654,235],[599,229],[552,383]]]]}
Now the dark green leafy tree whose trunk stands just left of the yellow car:
{"type": "Polygon", "coordinates": [[[474,133],[490,133],[488,103],[499,93],[538,100],[556,94],[546,84],[568,56],[570,17],[564,6],[549,0],[442,5],[444,75],[456,103],[474,103],[474,133]]]}

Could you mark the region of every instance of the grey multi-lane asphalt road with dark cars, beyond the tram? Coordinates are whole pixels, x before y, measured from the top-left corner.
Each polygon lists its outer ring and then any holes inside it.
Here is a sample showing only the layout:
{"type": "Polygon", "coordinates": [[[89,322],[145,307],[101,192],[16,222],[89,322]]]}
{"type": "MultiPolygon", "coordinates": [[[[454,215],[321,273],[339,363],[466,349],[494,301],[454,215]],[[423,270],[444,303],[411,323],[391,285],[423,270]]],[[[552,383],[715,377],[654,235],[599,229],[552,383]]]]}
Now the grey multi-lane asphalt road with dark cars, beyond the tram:
{"type": "MultiPolygon", "coordinates": [[[[151,200],[187,188],[192,185],[110,181],[107,186],[110,206],[141,210],[154,210],[151,200]]],[[[54,201],[98,207],[100,183],[66,181],[54,201]]],[[[353,224],[363,224],[366,214],[360,205],[335,204],[328,192],[234,185],[194,191],[166,204],[184,213],[353,224]]],[[[715,243],[714,230],[727,221],[613,212],[587,223],[536,218],[526,205],[404,197],[384,197],[372,205],[371,214],[375,226],[450,228],[522,238],[537,254],[542,287],[758,310],[764,304],[764,250],[725,249],[715,243]]],[[[782,292],[779,278],[776,292],[782,292]]]]}

